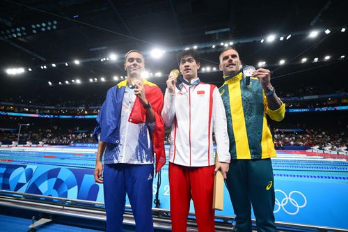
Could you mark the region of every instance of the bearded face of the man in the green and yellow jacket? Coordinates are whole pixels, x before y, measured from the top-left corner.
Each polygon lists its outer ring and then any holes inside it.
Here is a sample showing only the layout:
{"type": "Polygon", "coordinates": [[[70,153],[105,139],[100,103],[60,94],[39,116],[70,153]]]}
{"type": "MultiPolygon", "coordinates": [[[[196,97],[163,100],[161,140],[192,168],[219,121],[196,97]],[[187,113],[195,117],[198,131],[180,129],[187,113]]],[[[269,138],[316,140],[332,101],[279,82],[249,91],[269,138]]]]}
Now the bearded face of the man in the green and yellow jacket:
{"type": "Polygon", "coordinates": [[[239,54],[234,49],[229,49],[221,54],[219,69],[224,76],[235,74],[241,66],[242,62],[239,60],[239,54]]]}

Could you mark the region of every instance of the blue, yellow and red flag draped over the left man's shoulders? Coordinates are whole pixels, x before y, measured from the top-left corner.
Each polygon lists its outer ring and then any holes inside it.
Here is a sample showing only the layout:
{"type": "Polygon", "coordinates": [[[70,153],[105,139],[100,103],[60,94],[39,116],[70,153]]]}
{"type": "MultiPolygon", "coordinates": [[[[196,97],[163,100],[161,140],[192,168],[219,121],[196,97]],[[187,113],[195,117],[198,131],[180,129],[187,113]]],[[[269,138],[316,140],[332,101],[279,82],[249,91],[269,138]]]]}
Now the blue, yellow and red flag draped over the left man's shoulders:
{"type": "MultiPolygon", "coordinates": [[[[104,104],[97,116],[97,127],[95,128],[95,138],[100,134],[100,141],[106,143],[118,144],[120,140],[120,116],[122,109],[122,100],[125,93],[127,80],[118,83],[117,86],[110,88],[104,104]]],[[[155,112],[156,127],[152,132],[152,142],[156,153],[156,173],[166,163],[166,153],[164,150],[164,123],[161,118],[163,108],[163,93],[161,89],[152,82],[143,79],[143,88],[145,96],[150,102],[155,112]]],[[[146,121],[146,109],[141,104],[139,98],[136,98],[129,122],[141,124],[146,121]]]]}

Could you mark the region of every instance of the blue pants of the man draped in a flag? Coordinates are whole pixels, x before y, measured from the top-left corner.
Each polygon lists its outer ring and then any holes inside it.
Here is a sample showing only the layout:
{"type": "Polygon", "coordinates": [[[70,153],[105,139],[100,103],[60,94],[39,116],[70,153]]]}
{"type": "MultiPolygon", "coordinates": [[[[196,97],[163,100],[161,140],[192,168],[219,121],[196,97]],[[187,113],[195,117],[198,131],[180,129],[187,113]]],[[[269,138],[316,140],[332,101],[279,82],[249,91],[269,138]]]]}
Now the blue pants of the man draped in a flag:
{"type": "Polygon", "coordinates": [[[126,192],[132,206],[136,231],[152,232],[153,164],[104,165],[106,231],[122,232],[126,192]]]}

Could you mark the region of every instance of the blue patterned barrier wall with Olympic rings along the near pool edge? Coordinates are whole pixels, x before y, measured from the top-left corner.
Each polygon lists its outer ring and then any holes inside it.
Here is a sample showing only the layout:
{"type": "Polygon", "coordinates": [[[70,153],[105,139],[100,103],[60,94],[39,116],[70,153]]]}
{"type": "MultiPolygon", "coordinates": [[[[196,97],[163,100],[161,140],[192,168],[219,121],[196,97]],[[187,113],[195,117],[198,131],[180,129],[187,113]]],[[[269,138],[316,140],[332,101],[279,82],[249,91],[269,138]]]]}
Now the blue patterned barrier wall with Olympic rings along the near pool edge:
{"type": "MultiPolygon", "coordinates": [[[[93,171],[69,167],[0,164],[0,187],[1,190],[103,202],[103,188],[94,182],[93,171]]],[[[348,180],[327,175],[329,173],[322,176],[275,174],[276,220],[348,229],[348,180]]],[[[157,178],[153,185],[154,198],[156,183],[157,178]]],[[[164,166],[159,190],[161,208],[170,208],[169,193],[168,166],[164,166]]],[[[194,211],[193,203],[190,211],[194,211]]],[[[224,210],[216,211],[216,215],[234,215],[226,188],[224,210]]]]}

